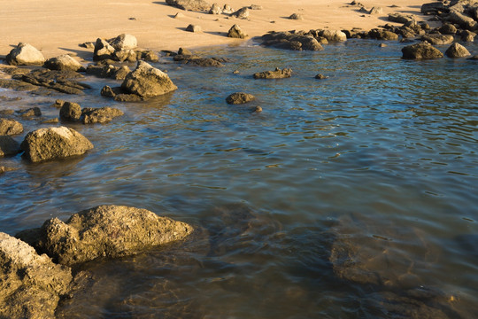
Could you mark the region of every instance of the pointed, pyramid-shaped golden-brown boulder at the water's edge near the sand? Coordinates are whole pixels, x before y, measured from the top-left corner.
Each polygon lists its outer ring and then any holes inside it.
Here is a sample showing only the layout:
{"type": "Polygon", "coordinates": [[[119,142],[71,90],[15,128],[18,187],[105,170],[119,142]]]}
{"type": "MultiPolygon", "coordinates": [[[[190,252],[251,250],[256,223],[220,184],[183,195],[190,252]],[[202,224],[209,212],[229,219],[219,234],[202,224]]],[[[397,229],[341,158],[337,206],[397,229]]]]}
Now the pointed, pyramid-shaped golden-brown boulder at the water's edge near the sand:
{"type": "Polygon", "coordinates": [[[177,87],[167,74],[146,62],[138,61],[135,71],[127,74],[121,89],[140,97],[156,97],[171,92],[177,87]]]}

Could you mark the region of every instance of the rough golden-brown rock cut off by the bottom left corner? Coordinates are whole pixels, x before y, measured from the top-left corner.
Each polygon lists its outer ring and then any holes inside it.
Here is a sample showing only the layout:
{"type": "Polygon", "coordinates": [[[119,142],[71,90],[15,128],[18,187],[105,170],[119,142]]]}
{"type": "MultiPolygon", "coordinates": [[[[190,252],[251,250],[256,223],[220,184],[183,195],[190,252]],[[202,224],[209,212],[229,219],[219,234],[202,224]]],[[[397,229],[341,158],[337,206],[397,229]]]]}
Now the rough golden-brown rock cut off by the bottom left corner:
{"type": "Polygon", "coordinates": [[[55,318],[58,300],[68,292],[71,281],[70,268],[0,233],[0,318],[55,318]]]}

